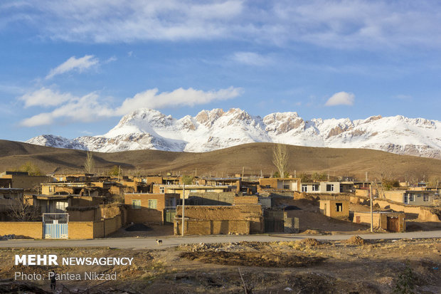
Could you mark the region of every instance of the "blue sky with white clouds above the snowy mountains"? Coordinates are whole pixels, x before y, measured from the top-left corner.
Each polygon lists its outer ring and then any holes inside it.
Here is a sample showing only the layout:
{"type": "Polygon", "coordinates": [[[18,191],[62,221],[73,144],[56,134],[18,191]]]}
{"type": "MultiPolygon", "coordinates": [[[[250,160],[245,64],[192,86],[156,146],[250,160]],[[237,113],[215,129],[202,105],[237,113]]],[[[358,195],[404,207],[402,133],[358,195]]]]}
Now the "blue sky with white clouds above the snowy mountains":
{"type": "Polygon", "coordinates": [[[139,107],[440,120],[438,1],[1,1],[0,139],[139,107]]]}

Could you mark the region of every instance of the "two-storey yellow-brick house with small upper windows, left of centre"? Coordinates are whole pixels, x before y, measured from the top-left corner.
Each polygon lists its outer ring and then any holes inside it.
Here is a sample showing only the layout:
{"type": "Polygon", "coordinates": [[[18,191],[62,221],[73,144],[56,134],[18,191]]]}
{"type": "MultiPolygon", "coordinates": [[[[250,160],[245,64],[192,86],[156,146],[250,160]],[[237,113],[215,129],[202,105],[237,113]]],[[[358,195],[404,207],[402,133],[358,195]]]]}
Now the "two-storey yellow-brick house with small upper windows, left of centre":
{"type": "Polygon", "coordinates": [[[172,222],[179,204],[176,193],[127,193],[127,221],[134,223],[164,224],[172,222]]]}

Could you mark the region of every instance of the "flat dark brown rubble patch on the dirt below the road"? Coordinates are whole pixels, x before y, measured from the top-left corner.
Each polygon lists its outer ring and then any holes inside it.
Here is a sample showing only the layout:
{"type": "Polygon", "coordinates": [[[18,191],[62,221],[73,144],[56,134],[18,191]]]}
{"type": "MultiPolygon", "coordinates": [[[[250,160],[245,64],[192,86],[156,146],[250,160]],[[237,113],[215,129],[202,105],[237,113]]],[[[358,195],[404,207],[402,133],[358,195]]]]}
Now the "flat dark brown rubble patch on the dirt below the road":
{"type": "Polygon", "coordinates": [[[202,263],[214,263],[225,266],[260,266],[265,268],[297,268],[311,266],[324,261],[317,256],[298,254],[275,254],[262,252],[199,251],[183,252],[180,258],[202,263]]]}

